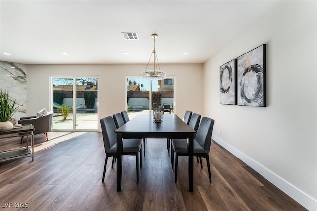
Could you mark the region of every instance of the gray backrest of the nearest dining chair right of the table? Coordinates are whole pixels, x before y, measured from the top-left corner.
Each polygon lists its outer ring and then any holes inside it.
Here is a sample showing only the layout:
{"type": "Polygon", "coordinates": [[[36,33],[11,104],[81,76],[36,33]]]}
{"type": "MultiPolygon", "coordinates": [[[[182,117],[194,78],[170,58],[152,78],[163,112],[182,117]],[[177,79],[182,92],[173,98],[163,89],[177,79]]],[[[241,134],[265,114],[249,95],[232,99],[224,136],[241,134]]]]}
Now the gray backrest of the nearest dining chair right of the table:
{"type": "Polygon", "coordinates": [[[203,117],[196,132],[195,140],[204,148],[204,153],[209,153],[210,150],[213,125],[213,119],[203,117]]]}

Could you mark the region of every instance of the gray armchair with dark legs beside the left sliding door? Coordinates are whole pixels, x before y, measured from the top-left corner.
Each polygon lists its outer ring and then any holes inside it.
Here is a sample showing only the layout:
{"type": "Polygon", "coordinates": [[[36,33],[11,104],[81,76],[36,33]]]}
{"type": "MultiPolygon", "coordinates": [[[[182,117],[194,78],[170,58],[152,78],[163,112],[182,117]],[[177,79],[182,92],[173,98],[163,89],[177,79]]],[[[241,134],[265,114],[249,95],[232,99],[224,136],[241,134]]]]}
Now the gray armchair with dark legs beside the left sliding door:
{"type": "MultiPolygon", "coordinates": [[[[46,140],[48,141],[48,132],[52,129],[52,123],[53,123],[53,111],[48,112],[47,114],[36,117],[36,116],[28,116],[28,117],[21,117],[19,120],[19,124],[25,125],[25,124],[32,124],[34,127],[34,135],[39,133],[45,133],[46,134],[46,140]]],[[[24,141],[23,134],[21,137],[21,143],[24,141]]]]}

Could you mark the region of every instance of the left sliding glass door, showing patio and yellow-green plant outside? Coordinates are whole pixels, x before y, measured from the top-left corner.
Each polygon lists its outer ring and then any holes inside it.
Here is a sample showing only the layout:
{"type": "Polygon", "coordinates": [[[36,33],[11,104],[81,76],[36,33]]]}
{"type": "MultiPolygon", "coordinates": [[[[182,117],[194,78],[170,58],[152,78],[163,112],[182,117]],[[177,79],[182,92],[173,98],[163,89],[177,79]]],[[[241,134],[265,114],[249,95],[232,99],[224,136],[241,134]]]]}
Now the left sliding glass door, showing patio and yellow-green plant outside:
{"type": "Polygon", "coordinates": [[[97,77],[52,77],[52,130],[97,130],[97,85],[97,77]]]}

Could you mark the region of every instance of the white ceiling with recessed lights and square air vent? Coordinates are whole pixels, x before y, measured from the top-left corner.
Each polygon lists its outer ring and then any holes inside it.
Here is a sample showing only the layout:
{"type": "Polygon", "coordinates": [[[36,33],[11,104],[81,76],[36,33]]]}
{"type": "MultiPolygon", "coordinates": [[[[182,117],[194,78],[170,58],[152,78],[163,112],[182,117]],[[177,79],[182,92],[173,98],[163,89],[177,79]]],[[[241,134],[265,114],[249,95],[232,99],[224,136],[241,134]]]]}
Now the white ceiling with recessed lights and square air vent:
{"type": "Polygon", "coordinates": [[[276,2],[1,0],[0,59],[21,64],[144,64],[153,50],[151,34],[156,33],[160,64],[204,63],[243,36],[276,2]],[[139,40],[125,40],[121,32],[137,32],[139,40]]]}

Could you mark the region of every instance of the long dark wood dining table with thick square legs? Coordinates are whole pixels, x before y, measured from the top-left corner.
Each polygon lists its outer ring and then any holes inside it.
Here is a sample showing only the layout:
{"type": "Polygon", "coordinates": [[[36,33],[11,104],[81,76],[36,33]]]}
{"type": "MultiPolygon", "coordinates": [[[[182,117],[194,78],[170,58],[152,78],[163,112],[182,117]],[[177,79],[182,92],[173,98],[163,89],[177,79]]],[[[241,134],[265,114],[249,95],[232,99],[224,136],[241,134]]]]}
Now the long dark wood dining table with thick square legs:
{"type": "MultiPolygon", "coordinates": [[[[195,130],[175,114],[164,114],[163,122],[153,122],[152,114],[138,114],[115,130],[117,133],[117,191],[121,191],[122,181],[122,141],[123,138],[188,138],[188,185],[194,189],[193,136],[195,130]]],[[[127,140],[128,141],[128,140],[127,140]]]]}

